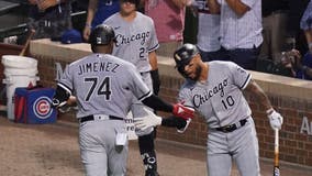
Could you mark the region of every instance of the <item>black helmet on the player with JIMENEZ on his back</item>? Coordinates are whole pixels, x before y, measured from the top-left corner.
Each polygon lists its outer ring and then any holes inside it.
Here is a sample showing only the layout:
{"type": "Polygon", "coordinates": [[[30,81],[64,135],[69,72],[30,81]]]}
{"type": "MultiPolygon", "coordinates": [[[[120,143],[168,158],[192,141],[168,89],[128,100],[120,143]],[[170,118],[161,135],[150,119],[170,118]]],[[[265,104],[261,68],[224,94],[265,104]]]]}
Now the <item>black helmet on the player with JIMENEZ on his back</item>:
{"type": "Polygon", "coordinates": [[[91,45],[107,45],[112,41],[115,42],[115,33],[113,28],[100,24],[96,26],[90,34],[89,43],[91,45]]]}

